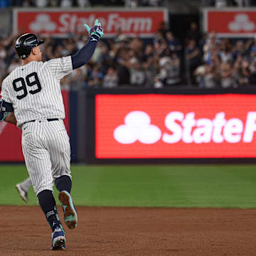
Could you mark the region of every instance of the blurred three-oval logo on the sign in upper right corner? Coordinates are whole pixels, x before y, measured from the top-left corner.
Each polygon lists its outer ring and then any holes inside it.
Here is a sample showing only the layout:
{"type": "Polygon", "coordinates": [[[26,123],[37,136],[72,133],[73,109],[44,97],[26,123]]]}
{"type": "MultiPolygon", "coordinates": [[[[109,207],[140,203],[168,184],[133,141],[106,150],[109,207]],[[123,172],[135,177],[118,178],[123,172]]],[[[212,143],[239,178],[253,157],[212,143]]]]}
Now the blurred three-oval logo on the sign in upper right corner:
{"type": "Polygon", "coordinates": [[[228,23],[228,28],[230,31],[254,31],[255,23],[247,14],[237,14],[234,21],[228,23]]]}

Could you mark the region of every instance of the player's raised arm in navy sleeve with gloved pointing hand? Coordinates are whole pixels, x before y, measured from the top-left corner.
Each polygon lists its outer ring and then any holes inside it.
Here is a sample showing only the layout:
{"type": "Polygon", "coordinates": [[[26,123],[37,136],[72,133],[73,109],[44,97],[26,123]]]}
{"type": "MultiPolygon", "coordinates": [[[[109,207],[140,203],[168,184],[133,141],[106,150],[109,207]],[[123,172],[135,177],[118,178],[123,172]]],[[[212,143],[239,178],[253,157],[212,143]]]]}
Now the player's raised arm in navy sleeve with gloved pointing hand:
{"type": "Polygon", "coordinates": [[[95,52],[97,42],[104,35],[101,23],[99,23],[97,19],[95,20],[93,28],[90,28],[87,24],[84,24],[84,26],[90,35],[90,39],[86,45],[78,51],[78,53],[71,56],[73,69],[80,68],[82,65],[89,62],[92,54],[95,52]]]}

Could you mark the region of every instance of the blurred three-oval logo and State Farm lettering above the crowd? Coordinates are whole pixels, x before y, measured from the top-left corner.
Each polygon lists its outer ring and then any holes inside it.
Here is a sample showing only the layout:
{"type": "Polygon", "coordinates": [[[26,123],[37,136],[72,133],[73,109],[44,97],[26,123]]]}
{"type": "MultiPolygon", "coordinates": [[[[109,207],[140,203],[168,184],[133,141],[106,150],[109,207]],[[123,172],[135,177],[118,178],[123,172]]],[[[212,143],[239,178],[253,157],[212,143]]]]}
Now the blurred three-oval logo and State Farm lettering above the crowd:
{"type": "MultiPolygon", "coordinates": [[[[36,33],[41,31],[48,32],[60,32],[60,33],[69,33],[69,32],[82,32],[85,31],[84,23],[87,23],[90,27],[93,26],[95,22],[95,14],[90,14],[89,16],[79,17],[77,14],[67,14],[63,13],[58,16],[58,24],[51,21],[50,14],[38,14],[35,18],[35,21],[32,21],[29,24],[29,29],[36,33]]],[[[144,14],[141,14],[139,17],[122,17],[118,13],[110,13],[105,17],[98,17],[102,28],[107,33],[113,33],[118,29],[121,29],[123,33],[129,32],[140,32],[140,33],[149,33],[152,29],[152,18],[150,16],[145,17],[144,14]]]]}

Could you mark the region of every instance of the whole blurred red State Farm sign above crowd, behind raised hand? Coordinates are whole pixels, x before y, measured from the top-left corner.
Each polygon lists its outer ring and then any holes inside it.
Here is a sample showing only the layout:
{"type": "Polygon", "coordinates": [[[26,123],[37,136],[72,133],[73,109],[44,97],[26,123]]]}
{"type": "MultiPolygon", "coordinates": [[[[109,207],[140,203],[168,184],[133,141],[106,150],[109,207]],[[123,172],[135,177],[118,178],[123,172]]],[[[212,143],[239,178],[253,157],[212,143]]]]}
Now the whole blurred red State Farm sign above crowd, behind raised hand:
{"type": "Polygon", "coordinates": [[[105,37],[119,30],[124,35],[152,36],[167,21],[165,9],[14,9],[14,33],[66,36],[82,33],[84,23],[93,26],[98,18],[105,37]]]}

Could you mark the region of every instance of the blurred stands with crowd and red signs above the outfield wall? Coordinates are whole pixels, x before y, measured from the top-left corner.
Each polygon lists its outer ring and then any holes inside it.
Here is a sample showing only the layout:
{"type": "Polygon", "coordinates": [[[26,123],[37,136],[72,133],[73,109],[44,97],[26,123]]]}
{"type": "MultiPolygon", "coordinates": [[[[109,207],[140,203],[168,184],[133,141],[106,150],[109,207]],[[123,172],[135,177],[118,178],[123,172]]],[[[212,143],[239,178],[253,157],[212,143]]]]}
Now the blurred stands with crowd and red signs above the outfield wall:
{"type": "Polygon", "coordinates": [[[254,86],[251,6],[254,0],[1,0],[0,83],[19,64],[13,46],[21,33],[46,40],[44,60],[59,58],[85,45],[82,23],[97,17],[105,37],[90,63],[62,80],[63,90],[254,86]]]}

